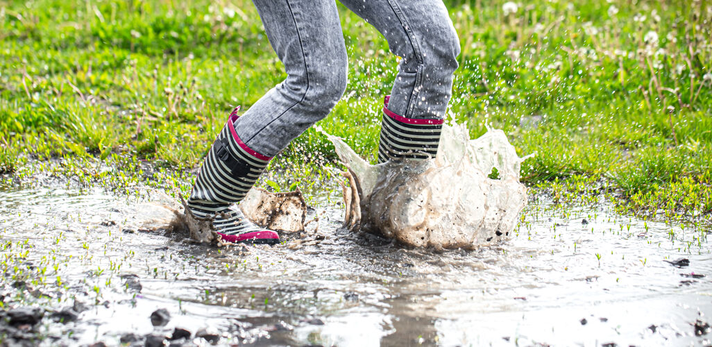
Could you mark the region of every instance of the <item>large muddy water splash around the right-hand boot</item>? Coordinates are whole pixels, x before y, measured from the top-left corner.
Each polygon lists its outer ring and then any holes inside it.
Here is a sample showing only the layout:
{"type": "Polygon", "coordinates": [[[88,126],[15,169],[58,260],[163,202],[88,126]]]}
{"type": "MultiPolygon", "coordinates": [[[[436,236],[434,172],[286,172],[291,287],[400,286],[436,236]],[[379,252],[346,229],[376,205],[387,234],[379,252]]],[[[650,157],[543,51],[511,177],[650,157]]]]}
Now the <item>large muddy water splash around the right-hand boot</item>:
{"type": "Polygon", "coordinates": [[[350,229],[377,230],[414,247],[473,249],[507,239],[526,204],[519,171],[527,157],[518,157],[502,130],[470,140],[464,125],[444,125],[435,158],[381,165],[325,135],[349,171],[350,229]],[[493,169],[498,179],[488,177],[493,169]]]}

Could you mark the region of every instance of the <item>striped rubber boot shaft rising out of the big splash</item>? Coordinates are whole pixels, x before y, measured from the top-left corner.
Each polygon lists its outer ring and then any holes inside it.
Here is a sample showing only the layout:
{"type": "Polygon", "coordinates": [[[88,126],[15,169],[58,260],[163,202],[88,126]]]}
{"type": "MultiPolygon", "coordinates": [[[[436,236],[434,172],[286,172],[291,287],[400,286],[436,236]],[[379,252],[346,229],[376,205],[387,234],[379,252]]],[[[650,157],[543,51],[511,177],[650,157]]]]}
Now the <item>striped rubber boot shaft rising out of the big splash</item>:
{"type": "Polygon", "coordinates": [[[378,163],[435,157],[444,120],[405,118],[388,109],[386,96],[378,145],[378,163]]]}

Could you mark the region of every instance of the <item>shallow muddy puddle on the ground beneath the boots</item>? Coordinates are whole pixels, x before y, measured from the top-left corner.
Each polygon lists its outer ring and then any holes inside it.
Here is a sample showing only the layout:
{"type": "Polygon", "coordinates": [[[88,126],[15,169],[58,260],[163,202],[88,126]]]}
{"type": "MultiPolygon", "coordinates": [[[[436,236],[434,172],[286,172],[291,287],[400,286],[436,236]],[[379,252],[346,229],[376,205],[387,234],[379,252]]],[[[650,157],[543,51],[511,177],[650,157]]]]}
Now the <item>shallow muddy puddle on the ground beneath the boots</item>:
{"type": "Polygon", "coordinates": [[[154,213],[141,203],[100,190],[0,191],[4,306],[48,310],[34,330],[41,344],[111,346],[133,333],[142,346],[176,327],[202,345],[203,328],[218,344],[709,343],[693,326],[712,313],[708,227],[542,200],[509,242],[434,253],[341,231],[342,210],[330,207],[298,247],[284,235],[276,247],[216,249],[137,230],[136,216],[154,213]],[[666,262],[679,258],[689,266],[666,262]],[[50,318],[75,301],[87,307],[78,320],[50,318]],[[170,314],[165,326],[152,326],[157,309],[170,314]]]}

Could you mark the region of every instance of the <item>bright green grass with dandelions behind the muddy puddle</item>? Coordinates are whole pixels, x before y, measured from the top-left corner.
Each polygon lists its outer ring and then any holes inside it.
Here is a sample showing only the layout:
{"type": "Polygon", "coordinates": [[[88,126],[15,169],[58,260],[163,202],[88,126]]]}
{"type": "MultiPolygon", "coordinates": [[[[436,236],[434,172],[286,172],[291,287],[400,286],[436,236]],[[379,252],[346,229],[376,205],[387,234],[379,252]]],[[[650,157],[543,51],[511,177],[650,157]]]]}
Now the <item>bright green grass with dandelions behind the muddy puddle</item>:
{"type": "MultiPolygon", "coordinates": [[[[599,182],[632,212],[711,213],[712,4],[534,0],[506,16],[503,3],[446,1],[462,46],[454,118],[537,152],[529,185],[599,182]]],[[[320,125],[373,160],[397,58],[340,11],[350,82],[320,125]]],[[[0,1],[0,172],[66,157],[190,177],[231,108],[284,77],[250,1],[0,1]]],[[[273,168],[288,187],[334,159],[310,129],[273,168]]]]}

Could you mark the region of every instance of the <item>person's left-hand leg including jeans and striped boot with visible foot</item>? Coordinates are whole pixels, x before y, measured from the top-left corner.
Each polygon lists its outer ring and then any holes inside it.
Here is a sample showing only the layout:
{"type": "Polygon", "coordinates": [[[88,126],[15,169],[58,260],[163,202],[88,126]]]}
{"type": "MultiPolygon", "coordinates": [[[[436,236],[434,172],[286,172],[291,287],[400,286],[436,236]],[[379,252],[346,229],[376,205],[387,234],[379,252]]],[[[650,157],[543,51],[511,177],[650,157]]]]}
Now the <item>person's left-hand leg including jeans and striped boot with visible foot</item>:
{"type": "Polygon", "coordinates": [[[277,242],[239,208],[271,157],[324,118],[346,88],[346,48],[334,0],[253,0],[287,79],[242,117],[236,111],[203,162],[187,201],[197,217],[215,217],[233,242],[277,242]]]}

